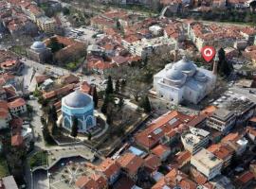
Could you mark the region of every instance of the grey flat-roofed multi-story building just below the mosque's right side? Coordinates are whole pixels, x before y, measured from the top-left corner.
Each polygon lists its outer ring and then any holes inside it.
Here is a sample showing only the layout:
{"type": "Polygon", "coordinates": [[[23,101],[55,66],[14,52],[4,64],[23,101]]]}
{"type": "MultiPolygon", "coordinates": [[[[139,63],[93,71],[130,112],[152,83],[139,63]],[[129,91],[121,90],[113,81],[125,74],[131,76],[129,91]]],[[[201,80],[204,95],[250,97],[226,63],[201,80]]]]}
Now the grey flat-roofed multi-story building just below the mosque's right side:
{"type": "Polygon", "coordinates": [[[235,124],[234,112],[225,109],[217,109],[207,120],[207,126],[227,133],[235,124]]]}

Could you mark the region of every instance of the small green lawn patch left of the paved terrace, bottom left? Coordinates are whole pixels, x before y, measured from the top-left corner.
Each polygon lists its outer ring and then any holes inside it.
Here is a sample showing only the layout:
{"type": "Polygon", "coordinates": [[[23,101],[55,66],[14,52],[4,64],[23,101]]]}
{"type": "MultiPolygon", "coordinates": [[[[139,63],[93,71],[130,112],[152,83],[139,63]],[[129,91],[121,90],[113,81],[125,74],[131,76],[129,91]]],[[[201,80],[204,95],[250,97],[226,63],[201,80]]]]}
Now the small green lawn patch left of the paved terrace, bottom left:
{"type": "Polygon", "coordinates": [[[46,151],[38,151],[29,158],[28,163],[30,165],[30,168],[44,166],[46,165],[46,159],[46,151]]]}

